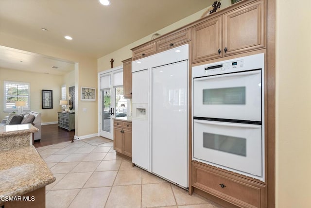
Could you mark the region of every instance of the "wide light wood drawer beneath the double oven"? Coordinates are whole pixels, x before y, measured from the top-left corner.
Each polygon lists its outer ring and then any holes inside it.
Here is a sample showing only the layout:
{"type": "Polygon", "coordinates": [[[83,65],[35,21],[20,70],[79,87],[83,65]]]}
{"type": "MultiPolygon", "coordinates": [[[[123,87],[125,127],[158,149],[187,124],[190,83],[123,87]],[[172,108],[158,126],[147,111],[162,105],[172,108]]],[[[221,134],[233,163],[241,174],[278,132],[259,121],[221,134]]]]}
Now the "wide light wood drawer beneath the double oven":
{"type": "Polygon", "coordinates": [[[192,162],[192,186],[246,208],[266,207],[266,186],[192,162]]]}

